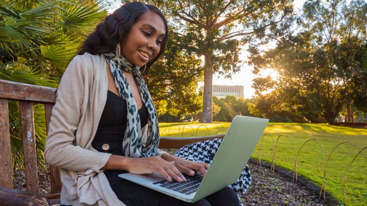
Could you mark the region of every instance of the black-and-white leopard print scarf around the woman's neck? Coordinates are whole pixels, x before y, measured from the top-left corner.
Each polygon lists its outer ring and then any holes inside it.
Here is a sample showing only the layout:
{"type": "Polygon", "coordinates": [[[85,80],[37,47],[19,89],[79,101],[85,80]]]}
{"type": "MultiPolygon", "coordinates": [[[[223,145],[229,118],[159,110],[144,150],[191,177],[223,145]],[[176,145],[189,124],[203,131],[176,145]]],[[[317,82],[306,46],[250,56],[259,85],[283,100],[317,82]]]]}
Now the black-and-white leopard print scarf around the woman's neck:
{"type": "Polygon", "coordinates": [[[110,65],[115,84],[119,90],[120,96],[127,103],[127,125],[126,131],[122,140],[122,150],[127,157],[148,157],[155,156],[159,144],[159,129],[157,113],[153,105],[153,100],[150,96],[145,81],[140,74],[140,67],[131,65],[124,57],[116,57],[115,54],[105,54],[105,58],[110,65]],[[124,71],[133,74],[135,82],[139,88],[141,99],[148,110],[148,132],[145,146],[141,142],[141,127],[140,117],[136,102],[132,96],[130,86],[127,83],[124,71]]]}

